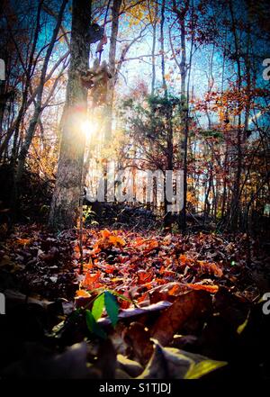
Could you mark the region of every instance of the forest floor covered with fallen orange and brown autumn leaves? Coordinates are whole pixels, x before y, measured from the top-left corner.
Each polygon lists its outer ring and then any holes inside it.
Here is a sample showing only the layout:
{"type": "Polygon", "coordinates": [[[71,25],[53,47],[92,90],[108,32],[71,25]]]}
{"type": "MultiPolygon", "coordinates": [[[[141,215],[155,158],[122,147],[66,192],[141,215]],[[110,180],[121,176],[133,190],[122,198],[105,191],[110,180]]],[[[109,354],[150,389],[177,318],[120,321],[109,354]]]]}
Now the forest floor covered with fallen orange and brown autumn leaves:
{"type": "Polygon", "coordinates": [[[0,374],[269,379],[269,257],[245,234],[19,225],[0,246],[0,374]]]}

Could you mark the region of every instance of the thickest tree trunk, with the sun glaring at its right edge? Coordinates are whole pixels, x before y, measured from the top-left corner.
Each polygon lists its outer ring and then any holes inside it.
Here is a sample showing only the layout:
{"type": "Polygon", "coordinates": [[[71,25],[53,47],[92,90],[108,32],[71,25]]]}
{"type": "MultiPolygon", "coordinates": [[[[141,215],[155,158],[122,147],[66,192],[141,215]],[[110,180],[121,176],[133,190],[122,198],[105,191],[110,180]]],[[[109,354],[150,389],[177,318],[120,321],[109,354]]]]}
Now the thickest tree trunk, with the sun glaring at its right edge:
{"type": "Polygon", "coordinates": [[[85,36],[91,20],[91,0],[73,0],[72,9],[67,98],[61,126],[57,180],[49,213],[49,227],[53,230],[76,226],[82,194],[85,134],[80,123],[86,114],[87,90],[82,86],[78,71],[86,71],[89,64],[89,44],[85,36]]]}

